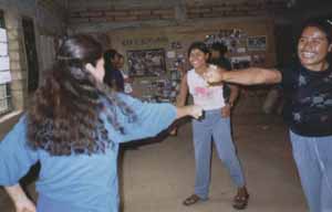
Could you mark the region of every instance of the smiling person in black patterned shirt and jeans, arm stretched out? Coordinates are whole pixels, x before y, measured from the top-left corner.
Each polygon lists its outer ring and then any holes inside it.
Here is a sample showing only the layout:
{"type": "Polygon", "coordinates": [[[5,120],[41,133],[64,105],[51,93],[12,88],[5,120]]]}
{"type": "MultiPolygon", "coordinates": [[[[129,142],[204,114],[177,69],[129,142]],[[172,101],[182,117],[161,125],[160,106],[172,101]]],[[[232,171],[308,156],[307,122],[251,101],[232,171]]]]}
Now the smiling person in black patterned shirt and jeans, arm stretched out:
{"type": "Polygon", "coordinates": [[[208,83],[280,83],[293,158],[311,212],[332,211],[332,25],[311,20],[298,41],[298,63],[279,70],[210,72],[208,83]]]}

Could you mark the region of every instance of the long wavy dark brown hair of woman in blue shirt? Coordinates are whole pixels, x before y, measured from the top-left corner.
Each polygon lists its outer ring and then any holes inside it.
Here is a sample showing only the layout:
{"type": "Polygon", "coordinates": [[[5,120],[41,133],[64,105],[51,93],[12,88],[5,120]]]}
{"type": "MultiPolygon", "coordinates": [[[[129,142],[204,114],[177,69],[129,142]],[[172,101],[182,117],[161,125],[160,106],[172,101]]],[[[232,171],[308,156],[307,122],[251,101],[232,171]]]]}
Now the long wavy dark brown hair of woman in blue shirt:
{"type": "Polygon", "coordinates": [[[53,67],[33,95],[28,110],[28,139],[33,149],[53,156],[104,152],[113,144],[100,113],[104,104],[106,117],[116,130],[115,107],[134,114],[103,83],[85,68],[102,59],[102,45],[89,35],[64,40],[53,67]]]}

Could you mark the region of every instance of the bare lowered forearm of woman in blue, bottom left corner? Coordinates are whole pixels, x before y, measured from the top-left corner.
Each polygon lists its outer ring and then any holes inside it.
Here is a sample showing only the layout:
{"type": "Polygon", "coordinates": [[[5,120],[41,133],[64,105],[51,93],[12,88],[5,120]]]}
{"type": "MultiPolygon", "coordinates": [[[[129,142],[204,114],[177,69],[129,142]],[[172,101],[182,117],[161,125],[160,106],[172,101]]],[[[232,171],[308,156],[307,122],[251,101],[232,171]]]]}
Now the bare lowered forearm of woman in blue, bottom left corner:
{"type": "Polygon", "coordinates": [[[15,212],[35,212],[34,204],[29,200],[20,184],[4,187],[14,203],[15,212]]]}

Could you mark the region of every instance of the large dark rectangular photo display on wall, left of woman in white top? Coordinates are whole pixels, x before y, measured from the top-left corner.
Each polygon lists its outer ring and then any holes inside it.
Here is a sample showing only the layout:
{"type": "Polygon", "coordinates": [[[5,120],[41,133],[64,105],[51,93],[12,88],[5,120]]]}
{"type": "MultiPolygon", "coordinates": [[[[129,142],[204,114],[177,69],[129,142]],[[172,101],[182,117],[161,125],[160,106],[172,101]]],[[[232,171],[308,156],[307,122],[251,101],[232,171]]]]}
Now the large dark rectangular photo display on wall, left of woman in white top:
{"type": "Polygon", "coordinates": [[[127,51],[129,76],[159,76],[166,73],[165,50],[127,51]]]}

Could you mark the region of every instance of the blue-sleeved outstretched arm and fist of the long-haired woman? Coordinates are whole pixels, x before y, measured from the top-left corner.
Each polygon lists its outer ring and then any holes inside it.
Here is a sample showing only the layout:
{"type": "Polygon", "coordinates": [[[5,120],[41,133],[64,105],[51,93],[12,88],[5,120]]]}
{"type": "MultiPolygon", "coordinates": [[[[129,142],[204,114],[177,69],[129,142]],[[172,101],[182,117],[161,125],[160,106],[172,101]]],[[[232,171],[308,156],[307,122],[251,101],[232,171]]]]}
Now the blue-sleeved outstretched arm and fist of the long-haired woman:
{"type": "MultiPolygon", "coordinates": [[[[123,134],[116,130],[107,120],[105,110],[101,116],[105,120],[105,127],[110,138],[114,142],[126,142],[142,138],[154,137],[162,130],[167,129],[177,118],[183,116],[199,117],[203,113],[197,106],[175,107],[169,103],[143,103],[131,96],[118,94],[122,100],[135,112],[135,117],[131,118],[123,114],[121,107],[116,107],[117,121],[123,127],[123,134]]],[[[112,108],[112,106],[110,106],[112,108]]],[[[108,107],[105,107],[108,109],[108,107]]]]}

